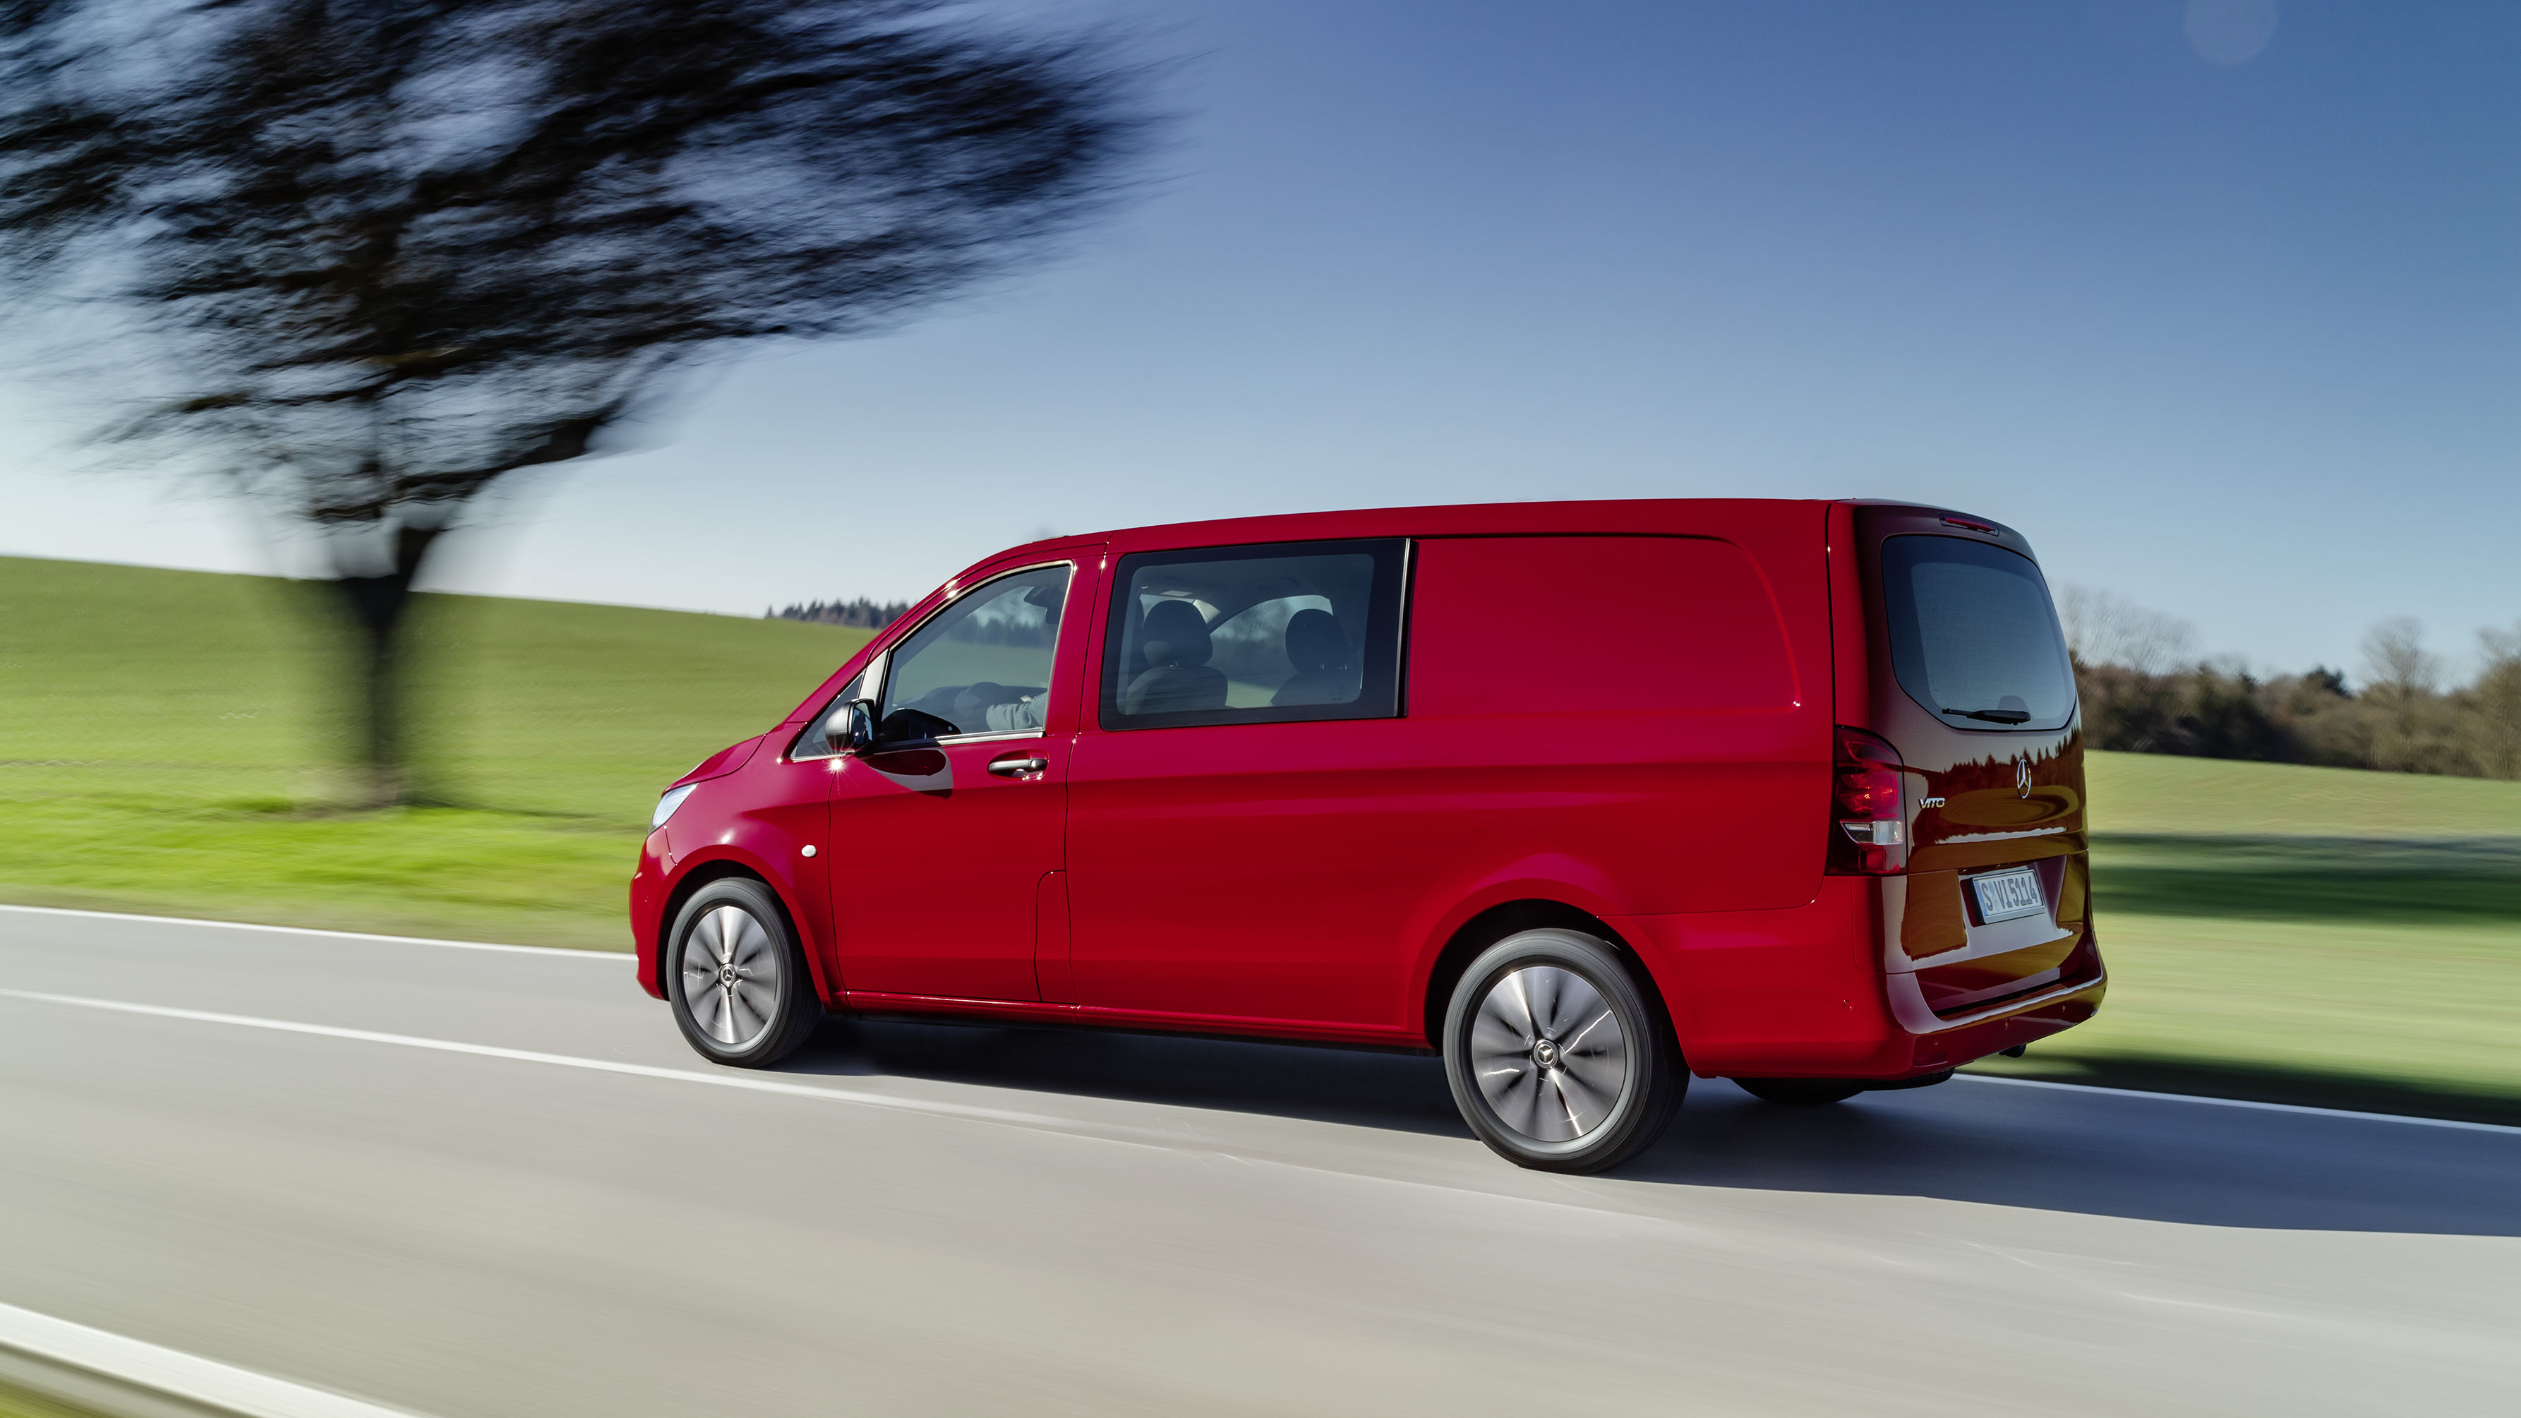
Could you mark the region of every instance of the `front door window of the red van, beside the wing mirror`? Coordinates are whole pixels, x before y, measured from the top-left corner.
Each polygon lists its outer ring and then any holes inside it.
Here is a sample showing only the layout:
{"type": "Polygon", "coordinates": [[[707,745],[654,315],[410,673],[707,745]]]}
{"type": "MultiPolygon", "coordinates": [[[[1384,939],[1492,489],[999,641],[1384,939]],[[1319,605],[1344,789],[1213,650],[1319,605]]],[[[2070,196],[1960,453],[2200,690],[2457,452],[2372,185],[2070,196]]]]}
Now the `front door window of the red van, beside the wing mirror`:
{"type": "Polygon", "coordinates": [[[892,648],[877,739],[1041,729],[1069,565],[1001,575],[892,648]]]}

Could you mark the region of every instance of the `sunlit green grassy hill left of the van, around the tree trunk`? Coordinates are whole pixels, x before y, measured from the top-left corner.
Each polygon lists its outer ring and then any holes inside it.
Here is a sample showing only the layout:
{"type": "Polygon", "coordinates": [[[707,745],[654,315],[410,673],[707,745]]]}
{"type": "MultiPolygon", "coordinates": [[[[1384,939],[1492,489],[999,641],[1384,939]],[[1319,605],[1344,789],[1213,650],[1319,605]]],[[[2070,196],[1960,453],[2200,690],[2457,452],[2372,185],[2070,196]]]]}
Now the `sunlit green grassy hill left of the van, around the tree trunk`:
{"type": "Polygon", "coordinates": [[[421,780],[333,812],[308,588],[0,558],[0,901],[625,949],[658,790],[867,631],[426,595],[421,780]]]}

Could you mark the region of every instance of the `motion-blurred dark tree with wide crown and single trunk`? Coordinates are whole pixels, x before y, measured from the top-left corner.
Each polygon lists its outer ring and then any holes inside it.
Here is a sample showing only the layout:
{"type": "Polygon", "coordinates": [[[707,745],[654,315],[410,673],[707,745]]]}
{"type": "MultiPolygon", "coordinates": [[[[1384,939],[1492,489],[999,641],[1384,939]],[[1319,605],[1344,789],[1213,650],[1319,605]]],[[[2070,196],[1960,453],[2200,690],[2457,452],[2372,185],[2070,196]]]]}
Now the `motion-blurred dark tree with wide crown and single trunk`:
{"type": "Polygon", "coordinates": [[[1008,270],[1114,194],[1134,93],[938,0],[0,0],[0,278],[156,386],[111,437],[328,535],[391,802],[459,510],[703,356],[1008,270]]]}

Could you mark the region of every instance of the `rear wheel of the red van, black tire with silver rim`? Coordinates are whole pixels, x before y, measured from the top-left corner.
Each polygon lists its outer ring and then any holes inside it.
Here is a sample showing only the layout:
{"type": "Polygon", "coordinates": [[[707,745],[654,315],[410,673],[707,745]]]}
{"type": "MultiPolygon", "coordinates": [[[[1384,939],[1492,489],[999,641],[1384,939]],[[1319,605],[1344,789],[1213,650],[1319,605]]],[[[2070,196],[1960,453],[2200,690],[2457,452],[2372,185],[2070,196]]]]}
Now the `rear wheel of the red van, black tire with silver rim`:
{"type": "Polygon", "coordinates": [[[1445,1009],[1445,1080],[1497,1156],[1576,1173],[1654,1146],[1689,1087],[1659,1004],[1608,944],[1566,929],[1470,961],[1445,1009]]]}

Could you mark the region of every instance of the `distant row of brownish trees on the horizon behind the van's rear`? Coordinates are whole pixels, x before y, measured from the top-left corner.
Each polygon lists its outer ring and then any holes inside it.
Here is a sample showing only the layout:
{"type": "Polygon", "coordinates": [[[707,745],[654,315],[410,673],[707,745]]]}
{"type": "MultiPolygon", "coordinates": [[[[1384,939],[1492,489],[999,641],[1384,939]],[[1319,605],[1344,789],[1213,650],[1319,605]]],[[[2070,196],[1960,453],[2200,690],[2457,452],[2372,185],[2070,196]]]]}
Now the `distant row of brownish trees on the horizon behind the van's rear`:
{"type": "Polygon", "coordinates": [[[2087,742],[2138,754],[2309,762],[2455,777],[2521,777],[2521,628],[2478,636],[2478,676],[2443,684],[2415,621],[2365,636],[2365,676],[2314,666],[2259,679],[2193,653],[2173,616],[2070,588],[2087,742]]]}

